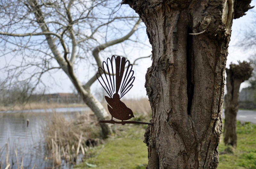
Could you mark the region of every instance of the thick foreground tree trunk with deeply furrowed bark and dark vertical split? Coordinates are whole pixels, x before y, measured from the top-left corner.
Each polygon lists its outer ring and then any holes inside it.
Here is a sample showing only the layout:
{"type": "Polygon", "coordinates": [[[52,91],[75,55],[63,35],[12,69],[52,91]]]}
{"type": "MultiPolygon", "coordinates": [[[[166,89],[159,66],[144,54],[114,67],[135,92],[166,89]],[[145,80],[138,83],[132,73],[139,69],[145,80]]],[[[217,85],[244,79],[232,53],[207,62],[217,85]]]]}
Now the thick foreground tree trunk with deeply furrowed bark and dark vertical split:
{"type": "Polygon", "coordinates": [[[153,48],[145,84],[154,123],[144,135],[148,169],[217,167],[231,25],[250,2],[123,0],[153,48]]]}

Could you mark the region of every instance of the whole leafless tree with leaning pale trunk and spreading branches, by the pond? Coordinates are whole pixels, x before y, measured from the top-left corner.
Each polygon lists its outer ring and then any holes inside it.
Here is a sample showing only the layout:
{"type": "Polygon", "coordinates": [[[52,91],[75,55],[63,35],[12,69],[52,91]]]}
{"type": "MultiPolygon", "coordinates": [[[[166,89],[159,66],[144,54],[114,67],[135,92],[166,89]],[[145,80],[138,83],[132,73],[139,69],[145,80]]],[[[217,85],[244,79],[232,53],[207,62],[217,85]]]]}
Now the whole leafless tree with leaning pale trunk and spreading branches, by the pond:
{"type": "MultiPolygon", "coordinates": [[[[138,15],[122,8],[103,15],[120,6],[110,0],[10,0],[1,1],[0,6],[5,82],[11,85],[22,80],[38,86],[44,84],[44,73],[64,71],[98,119],[106,119],[106,110],[90,92],[96,76],[82,84],[76,70],[81,62],[96,63],[95,69],[102,66],[99,53],[110,46],[140,41],[132,38],[141,22],[138,15]]],[[[100,125],[104,137],[112,132],[110,125],[100,125]]]]}

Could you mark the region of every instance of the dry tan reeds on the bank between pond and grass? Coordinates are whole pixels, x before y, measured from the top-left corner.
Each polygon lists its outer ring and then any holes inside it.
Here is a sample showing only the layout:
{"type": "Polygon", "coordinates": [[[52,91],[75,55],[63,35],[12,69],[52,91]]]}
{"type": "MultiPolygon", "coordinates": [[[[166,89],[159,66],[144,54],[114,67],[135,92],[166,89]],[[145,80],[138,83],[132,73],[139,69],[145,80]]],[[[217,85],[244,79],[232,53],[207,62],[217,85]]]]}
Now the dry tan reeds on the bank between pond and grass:
{"type": "Polygon", "coordinates": [[[43,127],[46,159],[52,159],[52,166],[60,166],[62,160],[76,164],[79,154],[87,152],[86,141],[90,138],[100,141],[100,126],[95,115],[88,111],[76,113],[75,120],[53,113],[47,115],[43,127]]]}

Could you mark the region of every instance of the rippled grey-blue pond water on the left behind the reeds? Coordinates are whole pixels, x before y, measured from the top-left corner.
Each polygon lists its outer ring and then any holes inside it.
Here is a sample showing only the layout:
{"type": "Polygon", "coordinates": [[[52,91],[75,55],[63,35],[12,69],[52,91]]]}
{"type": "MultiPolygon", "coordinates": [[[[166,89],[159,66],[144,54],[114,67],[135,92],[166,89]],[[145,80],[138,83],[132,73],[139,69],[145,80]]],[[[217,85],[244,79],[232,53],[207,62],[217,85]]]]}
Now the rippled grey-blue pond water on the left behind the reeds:
{"type": "MultiPolygon", "coordinates": [[[[61,114],[64,114],[66,119],[73,119],[76,116],[75,111],[84,110],[88,110],[88,108],[58,108],[53,111],[62,112],[61,114]],[[67,113],[71,111],[73,113],[67,113]]],[[[42,126],[45,121],[45,113],[42,112],[45,111],[52,112],[52,109],[0,112],[0,168],[1,162],[3,163],[2,168],[6,167],[7,146],[11,168],[17,168],[17,157],[19,167],[21,163],[24,168],[52,167],[52,160],[46,158],[43,142],[42,126]],[[29,119],[28,127],[27,119],[29,119]],[[17,150],[17,156],[15,150],[17,150]],[[23,162],[21,162],[22,157],[23,162]]],[[[63,162],[61,168],[72,168],[72,165],[65,165],[63,162]]]]}

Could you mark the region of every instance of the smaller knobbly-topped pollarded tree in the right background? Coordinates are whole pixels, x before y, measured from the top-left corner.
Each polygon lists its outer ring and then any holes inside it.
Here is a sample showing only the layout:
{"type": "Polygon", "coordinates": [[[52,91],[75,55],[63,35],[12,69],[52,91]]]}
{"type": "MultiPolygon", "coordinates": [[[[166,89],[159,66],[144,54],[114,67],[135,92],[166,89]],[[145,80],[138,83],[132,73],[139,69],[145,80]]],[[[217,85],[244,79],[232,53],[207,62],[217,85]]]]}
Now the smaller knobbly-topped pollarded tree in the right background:
{"type": "Polygon", "coordinates": [[[230,68],[226,68],[226,73],[224,143],[236,148],[236,114],[239,106],[239,88],[242,82],[251,77],[252,67],[250,63],[245,61],[239,62],[238,65],[230,64],[230,68]]]}

